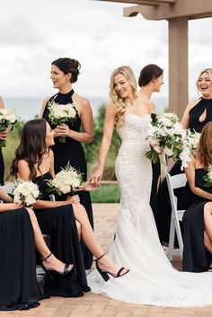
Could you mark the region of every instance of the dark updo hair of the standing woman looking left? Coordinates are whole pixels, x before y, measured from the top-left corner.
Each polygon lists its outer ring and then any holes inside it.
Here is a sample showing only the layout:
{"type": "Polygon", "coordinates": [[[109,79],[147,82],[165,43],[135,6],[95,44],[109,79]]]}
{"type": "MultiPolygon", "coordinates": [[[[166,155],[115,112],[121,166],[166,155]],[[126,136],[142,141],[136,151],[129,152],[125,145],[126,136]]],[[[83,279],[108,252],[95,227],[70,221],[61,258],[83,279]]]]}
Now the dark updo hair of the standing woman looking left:
{"type": "Polygon", "coordinates": [[[75,83],[77,81],[81,65],[76,59],[61,57],[54,60],[51,65],[57,66],[66,75],[71,73],[71,83],[75,83]]]}

